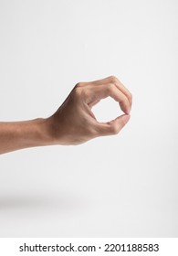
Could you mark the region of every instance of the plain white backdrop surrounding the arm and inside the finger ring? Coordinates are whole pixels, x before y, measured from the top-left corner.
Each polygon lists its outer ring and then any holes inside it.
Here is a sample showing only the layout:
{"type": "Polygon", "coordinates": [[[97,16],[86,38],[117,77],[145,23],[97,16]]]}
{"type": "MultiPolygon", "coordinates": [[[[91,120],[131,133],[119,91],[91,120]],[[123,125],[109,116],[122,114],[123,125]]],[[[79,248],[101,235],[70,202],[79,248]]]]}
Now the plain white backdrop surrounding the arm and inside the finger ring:
{"type": "Polygon", "coordinates": [[[109,75],[133,95],[119,135],[0,156],[1,237],[178,235],[177,13],[175,0],[0,1],[1,121],[47,117],[109,75]]]}

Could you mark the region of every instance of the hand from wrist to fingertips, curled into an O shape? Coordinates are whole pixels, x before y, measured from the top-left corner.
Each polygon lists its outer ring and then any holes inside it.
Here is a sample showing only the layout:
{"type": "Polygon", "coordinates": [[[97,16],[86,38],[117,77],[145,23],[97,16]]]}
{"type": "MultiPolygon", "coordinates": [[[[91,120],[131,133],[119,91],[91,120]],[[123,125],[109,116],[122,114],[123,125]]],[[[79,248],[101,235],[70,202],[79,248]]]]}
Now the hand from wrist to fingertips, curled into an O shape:
{"type": "Polygon", "coordinates": [[[79,82],[58,111],[47,119],[53,144],[82,144],[98,136],[119,133],[130,119],[131,101],[131,92],[113,76],[79,82]],[[99,123],[91,108],[109,96],[119,102],[124,114],[108,123],[99,123]]]}

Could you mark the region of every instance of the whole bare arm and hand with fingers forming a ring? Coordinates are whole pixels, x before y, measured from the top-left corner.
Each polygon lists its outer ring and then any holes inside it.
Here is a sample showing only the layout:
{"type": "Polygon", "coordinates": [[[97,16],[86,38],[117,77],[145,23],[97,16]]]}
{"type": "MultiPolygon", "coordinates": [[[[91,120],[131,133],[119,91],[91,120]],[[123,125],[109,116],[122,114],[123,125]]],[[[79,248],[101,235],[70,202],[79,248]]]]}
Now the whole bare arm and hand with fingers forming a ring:
{"type": "Polygon", "coordinates": [[[1,122],[0,154],[34,146],[83,144],[99,136],[117,134],[130,119],[131,102],[131,92],[113,76],[79,82],[50,117],[1,122]],[[124,114],[108,123],[99,123],[91,109],[109,96],[119,102],[124,114]]]}

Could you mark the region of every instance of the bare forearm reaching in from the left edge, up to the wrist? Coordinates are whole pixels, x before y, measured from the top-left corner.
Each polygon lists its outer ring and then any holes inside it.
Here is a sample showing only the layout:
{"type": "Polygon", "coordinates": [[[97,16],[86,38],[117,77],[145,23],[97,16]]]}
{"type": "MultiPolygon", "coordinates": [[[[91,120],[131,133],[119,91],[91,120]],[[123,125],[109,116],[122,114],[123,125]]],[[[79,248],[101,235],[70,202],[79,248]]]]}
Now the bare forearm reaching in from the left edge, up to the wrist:
{"type": "Polygon", "coordinates": [[[0,123],[0,154],[48,144],[52,144],[52,141],[47,119],[0,123]]]}

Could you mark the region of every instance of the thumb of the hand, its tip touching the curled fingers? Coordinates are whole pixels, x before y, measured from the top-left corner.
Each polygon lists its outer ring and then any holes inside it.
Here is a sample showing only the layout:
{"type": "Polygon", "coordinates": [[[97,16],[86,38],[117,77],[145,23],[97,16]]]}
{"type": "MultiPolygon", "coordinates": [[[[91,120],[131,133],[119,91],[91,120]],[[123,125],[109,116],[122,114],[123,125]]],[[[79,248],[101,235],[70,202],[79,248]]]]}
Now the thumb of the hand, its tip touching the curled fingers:
{"type": "Polygon", "coordinates": [[[120,133],[120,130],[129,122],[130,117],[129,114],[122,114],[110,122],[99,123],[99,135],[104,136],[120,133]]]}

